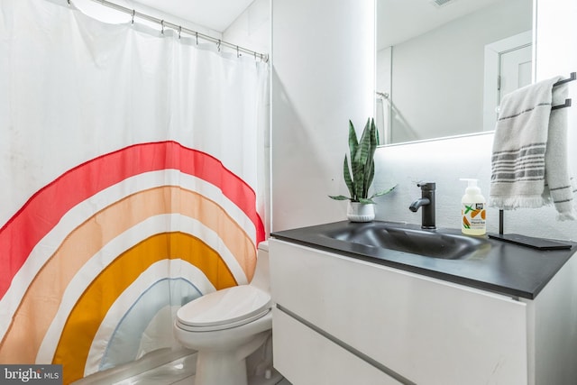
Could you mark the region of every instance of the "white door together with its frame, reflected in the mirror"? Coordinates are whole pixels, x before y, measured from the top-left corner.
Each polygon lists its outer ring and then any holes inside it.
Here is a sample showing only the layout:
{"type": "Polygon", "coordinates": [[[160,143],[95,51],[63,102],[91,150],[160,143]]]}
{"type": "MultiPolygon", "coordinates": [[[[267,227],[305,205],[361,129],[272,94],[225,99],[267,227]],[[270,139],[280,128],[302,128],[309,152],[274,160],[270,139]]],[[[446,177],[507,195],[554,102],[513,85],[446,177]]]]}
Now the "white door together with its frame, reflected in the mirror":
{"type": "Polygon", "coordinates": [[[497,123],[501,97],[533,82],[533,45],[530,31],[485,46],[483,131],[497,123]]]}

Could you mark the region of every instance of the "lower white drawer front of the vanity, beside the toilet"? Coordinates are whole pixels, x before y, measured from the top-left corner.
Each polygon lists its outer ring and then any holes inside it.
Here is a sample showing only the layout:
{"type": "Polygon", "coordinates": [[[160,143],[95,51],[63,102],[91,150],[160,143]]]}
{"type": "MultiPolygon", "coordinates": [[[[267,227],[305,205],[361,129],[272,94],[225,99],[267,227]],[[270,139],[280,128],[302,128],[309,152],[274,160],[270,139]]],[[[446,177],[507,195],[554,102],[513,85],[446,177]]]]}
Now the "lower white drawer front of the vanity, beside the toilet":
{"type": "Polygon", "coordinates": [[[274,367],[293,385],[399,385],[278,308],[273,313],[274,367]]]}

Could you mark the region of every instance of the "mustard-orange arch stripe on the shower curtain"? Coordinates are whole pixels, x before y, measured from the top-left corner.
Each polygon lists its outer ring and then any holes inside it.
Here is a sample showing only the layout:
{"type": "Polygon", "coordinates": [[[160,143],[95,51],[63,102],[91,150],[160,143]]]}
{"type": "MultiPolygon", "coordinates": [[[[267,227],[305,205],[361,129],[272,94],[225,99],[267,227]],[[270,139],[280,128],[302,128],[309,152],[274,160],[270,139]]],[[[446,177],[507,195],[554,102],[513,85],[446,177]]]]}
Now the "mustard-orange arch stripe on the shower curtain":
{"type": "Polygon", "coordinates": [[[114,300],[143,270],[166,258],[180,258],[194,264],[205,272],[216,289],[236,284],[220,256],[196,237],[182,233],[157,234],[139,243],[101,272],[70,313],[53,360],[63,365],[64,383],[83,377],[90,344],[114,300]]]}

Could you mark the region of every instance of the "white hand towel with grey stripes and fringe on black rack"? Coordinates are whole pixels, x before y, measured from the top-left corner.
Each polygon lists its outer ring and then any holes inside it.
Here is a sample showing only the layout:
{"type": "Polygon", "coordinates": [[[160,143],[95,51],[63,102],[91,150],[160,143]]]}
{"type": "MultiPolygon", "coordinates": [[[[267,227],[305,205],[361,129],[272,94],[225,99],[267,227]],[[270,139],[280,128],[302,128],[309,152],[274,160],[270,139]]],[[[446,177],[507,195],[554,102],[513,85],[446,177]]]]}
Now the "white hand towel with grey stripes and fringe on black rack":
{"type": "Polygon", "coordinates": [[[561,77],[503,96],[491,159],[490,206],[502,209],[554,203],[557,219],[575,219],[574,179],[567,165],[565,85],[561,77]]]}

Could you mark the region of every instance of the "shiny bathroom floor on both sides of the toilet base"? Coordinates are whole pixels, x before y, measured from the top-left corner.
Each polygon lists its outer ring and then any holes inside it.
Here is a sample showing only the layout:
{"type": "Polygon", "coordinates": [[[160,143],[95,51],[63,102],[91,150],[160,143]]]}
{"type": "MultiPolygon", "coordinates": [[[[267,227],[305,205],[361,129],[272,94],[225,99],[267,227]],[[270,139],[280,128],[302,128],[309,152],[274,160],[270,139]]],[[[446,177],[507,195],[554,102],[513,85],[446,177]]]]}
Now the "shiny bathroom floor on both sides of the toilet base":
{"type": "MultiPolygon", "coordinates": [[[[166,357],[166,355],[164,356],[166,357]]],[[[194,385],[197,371],[197,353],[191,353],[172,361],[163,362],[160,365],[151,364],[162,357],[151,357],[147,366],[126,365],[111,371],[99,372],[82,380],[74,382],[74,385],[194,385]],[[151,369],[143,370],[143,367],[151,369]]],[[[249,385],[291,385],[283,379],[278,371],[272,371],[270,379],[264,376],[252,377],[249,385]]]]}

